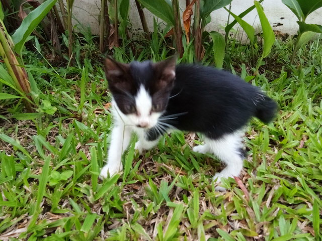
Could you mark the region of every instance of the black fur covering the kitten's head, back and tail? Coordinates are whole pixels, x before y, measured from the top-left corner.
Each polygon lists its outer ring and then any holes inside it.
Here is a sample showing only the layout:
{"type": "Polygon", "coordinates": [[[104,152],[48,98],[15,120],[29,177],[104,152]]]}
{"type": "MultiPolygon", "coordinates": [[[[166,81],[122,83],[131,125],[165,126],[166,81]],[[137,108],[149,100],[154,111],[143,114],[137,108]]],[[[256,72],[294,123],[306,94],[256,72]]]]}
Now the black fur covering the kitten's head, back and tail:
{"type": "MultiPolygon", "coordinates": [[[[241,129],[252,116],[269,123],[276,113],[276,102],[260,88],[222,70],[200,65],[175,67],[173,60],[156,64],[132,62],[121,64],[122,68],[117,65],[114,71],[117,76],[107,71],[107,77],[120,109],[126,109],[143,84],[152,97],[152,104],[158,107],[156,111],[164,111],[161,118],[169,118],[163,121],[166,123],[163,132],[173,126],[218,139],[241,129]],[[174,70],[175,78],[171,75],[174,70]]],[[[152,128],[146,138],[152,141],[162,134],[160,129],[152,128]]]]}

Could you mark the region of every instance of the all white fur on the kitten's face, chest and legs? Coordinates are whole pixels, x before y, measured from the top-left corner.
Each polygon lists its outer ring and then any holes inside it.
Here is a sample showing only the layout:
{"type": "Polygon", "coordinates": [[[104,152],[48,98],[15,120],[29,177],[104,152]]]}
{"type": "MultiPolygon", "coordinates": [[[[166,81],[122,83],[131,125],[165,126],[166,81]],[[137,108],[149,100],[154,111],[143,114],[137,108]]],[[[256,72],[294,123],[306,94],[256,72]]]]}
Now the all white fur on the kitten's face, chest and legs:
{"type": "MultiPolygon", "coordinates": [[[[140,89],[135,96],[136,109],[138,114],[123,114],[113,100],[113,116],[114,127],[112,130],[111,144],[109,147],[109,154],[107,164],[102,168],[100,176],[106,178],[108,173],[110,176],[122,171],[123,165],[121,163],[123,152],[127,149],[132,132],[135,132],[138,136],[138,142],[135,144],[135,148],[142,153],[143,150],[151,149],[155,146],[158,140],[147,141],[144,137],[145,131],[154,127],[157,124],[158,118],[162,113],[151,113],[152,98],[148,92],[146,92],[144,86],[140,86],[140,89]],[[146,124],[146,128],[138,128],[138,125],[146,124]]],[[[222,178],[239,176],[243,169],[243,158],[240,157],[239,149],[241,148],[240,131],[232,134],[227,134],[218,140],[205,139],[205,144],[196,146],[193,148],[194,152],[199,153],[213,153],[217,156],[226,167],[213,177],[217,183],[221,182],[222,178]]],[[[223,191],[223,187],[216,187],[216,190],[223,191]]]]}

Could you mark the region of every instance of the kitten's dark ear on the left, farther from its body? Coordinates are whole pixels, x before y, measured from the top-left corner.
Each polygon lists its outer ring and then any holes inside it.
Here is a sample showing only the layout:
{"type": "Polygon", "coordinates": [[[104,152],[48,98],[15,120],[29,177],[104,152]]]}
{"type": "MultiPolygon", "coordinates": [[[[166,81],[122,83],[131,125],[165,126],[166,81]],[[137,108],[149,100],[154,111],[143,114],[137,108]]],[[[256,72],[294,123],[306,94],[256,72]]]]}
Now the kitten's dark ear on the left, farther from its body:
{"type": "Polygon", "coordinates": [[[128,64],[119,63],[110,56],[105,59],[105,75],[109,82],[126,81],[128,72],[128,64]]]}

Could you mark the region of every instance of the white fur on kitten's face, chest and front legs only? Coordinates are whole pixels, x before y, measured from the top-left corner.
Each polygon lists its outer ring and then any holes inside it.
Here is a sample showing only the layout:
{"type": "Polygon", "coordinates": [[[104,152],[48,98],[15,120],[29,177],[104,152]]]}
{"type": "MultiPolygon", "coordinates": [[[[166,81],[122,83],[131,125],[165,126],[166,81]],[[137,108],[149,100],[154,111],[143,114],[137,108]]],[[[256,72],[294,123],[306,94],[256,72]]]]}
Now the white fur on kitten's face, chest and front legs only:
{"type": "Polygon", "coordinates": [[[140,86],[137,95],[135,96],[136,110],[138,114],[124,114],[112,100],[112,114],[114,117],[114,127],[112,130],[111,144],[109,147],[107,164],[102,168],[100,176],[106,178],[108,173],[110,176],[123,170],[122,155],[127,149],[132,132],[137,133],[139,141],[135,147],[142,153],[143,150],[148,150],[157,144],[157,140],[149,142],[144,138],[144,131],[152,128],[157,124],[157,119],[162,113],[151,113],[152,98],[146,92],[144,86],[140,86]],[[146,126],[145,129],[137,126],[146,126]]]}

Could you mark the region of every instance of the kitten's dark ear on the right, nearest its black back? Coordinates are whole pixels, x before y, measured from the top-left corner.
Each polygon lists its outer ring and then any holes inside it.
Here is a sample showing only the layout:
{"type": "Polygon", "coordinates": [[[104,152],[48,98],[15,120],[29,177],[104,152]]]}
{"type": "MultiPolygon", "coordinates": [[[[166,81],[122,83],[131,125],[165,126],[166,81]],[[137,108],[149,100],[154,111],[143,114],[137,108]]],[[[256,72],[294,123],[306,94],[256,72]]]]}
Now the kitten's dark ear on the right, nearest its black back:
{"type": "Polygon", "coordinates": [[[154,64],[154,73],[158,87],[163,88],[172,84],[176,78],[177,56],[172,56],[164,61],[154,64]]]}

